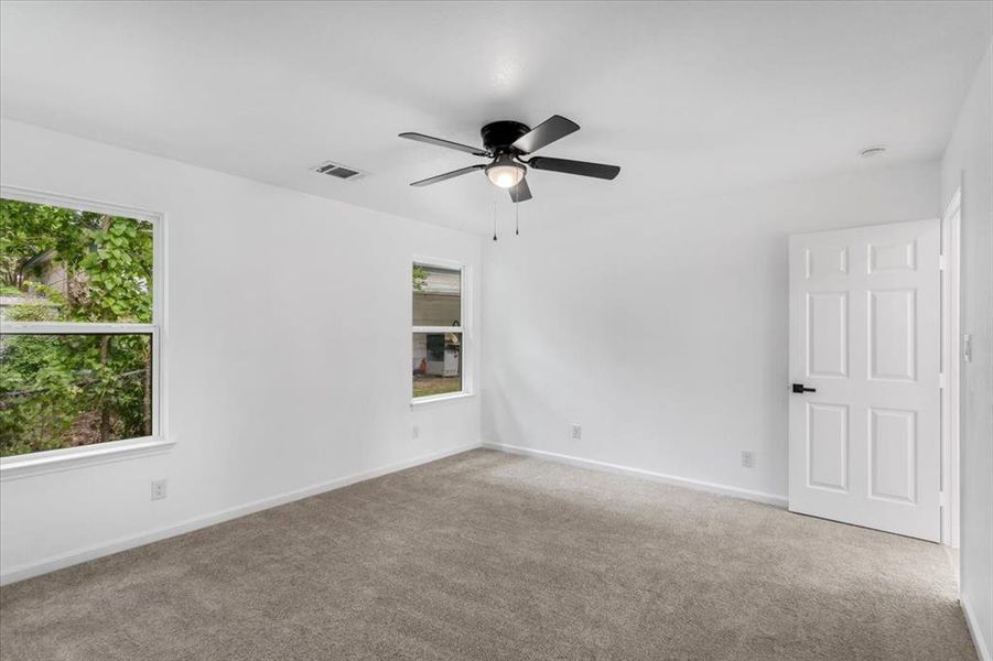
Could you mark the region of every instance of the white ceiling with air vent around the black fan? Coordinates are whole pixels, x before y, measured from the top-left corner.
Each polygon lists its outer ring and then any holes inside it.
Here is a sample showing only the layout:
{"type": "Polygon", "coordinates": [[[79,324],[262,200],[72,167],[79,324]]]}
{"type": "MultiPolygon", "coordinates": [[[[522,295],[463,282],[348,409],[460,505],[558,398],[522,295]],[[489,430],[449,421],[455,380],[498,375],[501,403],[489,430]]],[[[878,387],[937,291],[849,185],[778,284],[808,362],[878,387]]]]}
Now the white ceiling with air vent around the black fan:
{"type": "MultiPolygon", "coordinates": [[[[614,182],[529,175],[529,221],[938,158],[991,39],[990,2],[3,2],[0,113],[486,231],[478,144],[497,119],[583,128],[543,155],[614,182]],[[860,160],[861,148],[888,154],[860,160]],[[334,160],[369,173],[309,172],[334,160]]],[[[499,192],[498,213],[511,205],[499,192]]]]}

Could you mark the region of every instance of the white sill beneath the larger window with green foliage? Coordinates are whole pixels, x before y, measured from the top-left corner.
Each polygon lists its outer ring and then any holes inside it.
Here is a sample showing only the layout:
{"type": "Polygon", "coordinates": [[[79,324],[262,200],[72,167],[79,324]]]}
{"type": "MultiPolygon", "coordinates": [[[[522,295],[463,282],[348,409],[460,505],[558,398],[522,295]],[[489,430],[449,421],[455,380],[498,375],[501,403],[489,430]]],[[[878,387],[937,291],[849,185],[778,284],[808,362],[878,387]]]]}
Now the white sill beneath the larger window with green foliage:
{"type": "Polygon", "coordinates": [[[169,452],[173,445],[175,441],[148,436],[3,457],[0,459],[0,481],[158,455],[169,452]]]}

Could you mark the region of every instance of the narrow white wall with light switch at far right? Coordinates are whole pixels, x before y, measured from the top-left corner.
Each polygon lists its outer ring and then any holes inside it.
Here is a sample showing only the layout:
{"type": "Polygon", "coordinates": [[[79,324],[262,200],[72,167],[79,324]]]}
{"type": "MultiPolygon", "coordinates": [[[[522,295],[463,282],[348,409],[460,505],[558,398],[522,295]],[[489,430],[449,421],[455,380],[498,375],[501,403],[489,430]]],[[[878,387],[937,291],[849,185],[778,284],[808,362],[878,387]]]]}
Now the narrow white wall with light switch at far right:
{"type": "Polygon", "coordinates": [[[993,46],[941,161],[941,201],[962,187],[961,589],[978,647],[993,659],[993,46]]]}

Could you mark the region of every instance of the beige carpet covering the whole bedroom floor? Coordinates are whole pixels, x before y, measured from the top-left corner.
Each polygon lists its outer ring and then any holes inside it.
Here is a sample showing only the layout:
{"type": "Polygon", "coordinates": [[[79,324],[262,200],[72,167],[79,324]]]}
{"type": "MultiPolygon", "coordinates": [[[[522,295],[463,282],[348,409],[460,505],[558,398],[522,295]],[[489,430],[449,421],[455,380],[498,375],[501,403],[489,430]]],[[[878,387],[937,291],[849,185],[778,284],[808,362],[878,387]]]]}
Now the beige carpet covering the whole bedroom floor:
{"type": "Polygon", "coordinates": [[[3,587],[0,657],[975,659],[938,545],[489,451],[3,587]]]}

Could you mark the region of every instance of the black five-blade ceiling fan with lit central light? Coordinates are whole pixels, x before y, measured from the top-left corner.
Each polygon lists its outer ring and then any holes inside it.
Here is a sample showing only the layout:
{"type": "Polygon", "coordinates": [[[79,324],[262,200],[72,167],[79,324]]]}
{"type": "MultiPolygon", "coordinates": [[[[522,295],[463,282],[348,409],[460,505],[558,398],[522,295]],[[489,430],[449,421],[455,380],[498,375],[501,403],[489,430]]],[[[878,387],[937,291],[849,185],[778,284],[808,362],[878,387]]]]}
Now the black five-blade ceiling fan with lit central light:
{"type": "Polygon", "coordinates": [[[489,181],[499,188],[510,192],[510,199],[515,203],[531,199],[531,189],[528,180],[525,178],[528,166],[533,170],[548,170],[551,172],[564,172],[580,176],[612,180],[620,172],[617,165],[604,165],[587,161],[570,161],[566,159],[552,159],[549,156],[530,156],[543,147],[574,133],[580,130],[580,124],[560,115],[553,115],[533,129],[519,121],[495,121],[483,127],[479,133],[483,137],[483,148],[471,147],[433,138],[423,133],[400,133],[400,138],[427,142],[447,149],[462,151],[474,156],[490,159],[489,163],[469,165],[460,170],[453,170],[425,180],[413,182],[411,186],[430,186],[438,182],[462,176],[477,170],[485,170],[489,181]]]}

